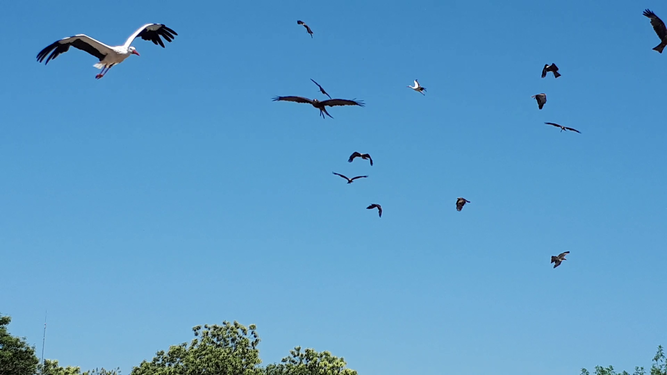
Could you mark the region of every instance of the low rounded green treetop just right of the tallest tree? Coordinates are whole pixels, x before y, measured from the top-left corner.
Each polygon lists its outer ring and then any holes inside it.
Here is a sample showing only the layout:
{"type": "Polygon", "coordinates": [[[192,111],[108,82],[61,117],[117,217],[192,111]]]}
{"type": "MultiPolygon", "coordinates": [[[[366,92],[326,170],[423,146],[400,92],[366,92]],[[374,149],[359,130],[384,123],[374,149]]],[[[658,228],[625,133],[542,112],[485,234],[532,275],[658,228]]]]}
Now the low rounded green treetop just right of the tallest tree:
{"type": "Polygon", "coordinates": [[[327,351],[318,353],[314,349],[306,349],[302,352],[297,346],[281,363],[268,365],[266,375],[357,375],[356,371],[346,369],[346,365],[345,359],[327,351]]]}

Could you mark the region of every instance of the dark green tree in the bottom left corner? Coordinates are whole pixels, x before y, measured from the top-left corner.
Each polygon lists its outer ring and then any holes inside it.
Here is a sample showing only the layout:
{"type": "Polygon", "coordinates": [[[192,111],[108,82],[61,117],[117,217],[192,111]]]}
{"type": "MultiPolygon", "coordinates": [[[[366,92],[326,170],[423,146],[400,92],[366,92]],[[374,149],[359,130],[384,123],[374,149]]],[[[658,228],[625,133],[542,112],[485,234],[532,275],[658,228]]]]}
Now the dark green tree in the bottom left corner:
{"type": "Polygon", "coordinates": [[[0,316],[0,375],[32,375],[39,362],[35,348],[24,338],[9,334],[7,326],[11,321],[8,316],[0,316]]]}

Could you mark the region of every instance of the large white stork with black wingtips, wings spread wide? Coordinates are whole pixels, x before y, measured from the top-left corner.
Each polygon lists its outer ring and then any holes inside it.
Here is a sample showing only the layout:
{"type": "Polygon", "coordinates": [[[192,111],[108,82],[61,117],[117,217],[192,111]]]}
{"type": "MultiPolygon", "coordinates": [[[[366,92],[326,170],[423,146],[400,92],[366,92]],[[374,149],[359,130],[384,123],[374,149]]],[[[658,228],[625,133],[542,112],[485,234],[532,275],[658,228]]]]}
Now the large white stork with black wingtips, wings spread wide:
{"type": "Polygon", "coordinates": [[[141,26],[139,30],[130,35],[122,46],[111,47],[89,37],[88,35],[77,34],[69,38],[60,39],[44,48],[37,54],[37,62],[42,62],[46,58],[46,62],[44,63],[44,65],[46,65],[61,53],[67,52],[69,47],[72,46],[82,51],[86,51],[100,59],[100,62],[94,65],[97,69],[102,69],[100,74],[95,76],[95,78],[100,79],[104,77],[112,66],[122,63],[128,56],[139,56],[139,52],[130,45],[135,38],[141,37],[143,40],[150,40],[155,43],[155,45],[159,44],[164,48],[164,43],[162,42],[162,39],[160,39],[160,36],[167,42],[171,42],[175,35],[178,34],[161,23],[149,23],[141,26]]]}

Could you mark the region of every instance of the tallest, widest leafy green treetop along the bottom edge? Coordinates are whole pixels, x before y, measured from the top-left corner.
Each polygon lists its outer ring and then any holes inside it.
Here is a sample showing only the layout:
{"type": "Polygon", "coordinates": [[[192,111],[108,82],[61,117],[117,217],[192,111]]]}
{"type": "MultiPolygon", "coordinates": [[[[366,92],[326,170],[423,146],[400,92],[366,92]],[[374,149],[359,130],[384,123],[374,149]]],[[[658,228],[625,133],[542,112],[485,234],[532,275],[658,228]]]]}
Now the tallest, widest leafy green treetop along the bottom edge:
{"type": "Polygon", "coordinates": [[[159,351],[151,362],[143,361],[131,375],[261,375],[258,366],[259,337],[255,326],[238,322],[196,326],[190,344],[159,351]]]}

